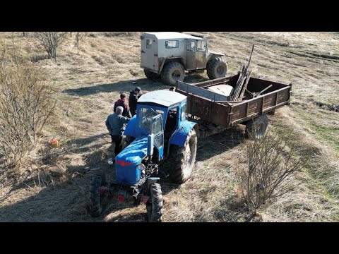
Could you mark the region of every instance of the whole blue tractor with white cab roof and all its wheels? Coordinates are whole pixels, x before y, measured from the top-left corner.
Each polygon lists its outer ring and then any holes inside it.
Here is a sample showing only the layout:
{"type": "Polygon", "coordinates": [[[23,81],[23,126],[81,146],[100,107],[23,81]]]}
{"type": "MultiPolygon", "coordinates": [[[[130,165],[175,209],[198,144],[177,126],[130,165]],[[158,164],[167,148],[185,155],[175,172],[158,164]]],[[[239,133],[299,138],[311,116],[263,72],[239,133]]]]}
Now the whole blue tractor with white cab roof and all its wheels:
{"type": "Polygon", "coordinates": [[[162,220],[162,191],[158,172],[169,162],[169,177],[184,183],[196,160],[198,123],[188,121],[186,96],[159,90],[138,99],[136,115],[126,126],[129,140],[115,157],[116,179],[106,183],[97,172],[90,183],[90,214],[100,216],[102,199],[115,197],[123,202],[144,203],[148,222],[162,220]]]}

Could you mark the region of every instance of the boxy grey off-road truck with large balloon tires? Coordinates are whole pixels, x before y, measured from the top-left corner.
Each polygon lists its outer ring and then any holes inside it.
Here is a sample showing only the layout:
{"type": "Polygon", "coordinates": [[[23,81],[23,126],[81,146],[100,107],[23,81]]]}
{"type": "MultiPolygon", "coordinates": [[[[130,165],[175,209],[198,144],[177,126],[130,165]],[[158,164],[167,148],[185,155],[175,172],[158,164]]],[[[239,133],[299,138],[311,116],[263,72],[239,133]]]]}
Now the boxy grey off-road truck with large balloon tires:
{"type": "Polygon", "coordinates": [[[167,85],[184,80],[185,71],[207,69],[210,79],[225,77],[227,63],[220,52],[208,50],[208,42],[198,35],[179,32],[145,32],[141,35],[141,68],[147,78],[162,78],[167,85]]]}

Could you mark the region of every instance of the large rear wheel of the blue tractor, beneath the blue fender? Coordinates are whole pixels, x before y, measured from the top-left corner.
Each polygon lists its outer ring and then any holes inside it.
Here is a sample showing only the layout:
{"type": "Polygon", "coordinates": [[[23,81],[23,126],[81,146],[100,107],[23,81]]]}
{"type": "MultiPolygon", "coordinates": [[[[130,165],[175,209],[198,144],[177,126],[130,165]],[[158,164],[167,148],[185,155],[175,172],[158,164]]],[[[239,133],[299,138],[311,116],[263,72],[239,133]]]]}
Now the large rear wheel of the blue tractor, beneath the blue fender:
{"type": "Polygon", "coordinates": [[[174,183],[184,183],[191,176],[196,162],[197,135],[194,128],[189,132],[184,147],[171,145],[169,151],[169,176],[174,183]]]}

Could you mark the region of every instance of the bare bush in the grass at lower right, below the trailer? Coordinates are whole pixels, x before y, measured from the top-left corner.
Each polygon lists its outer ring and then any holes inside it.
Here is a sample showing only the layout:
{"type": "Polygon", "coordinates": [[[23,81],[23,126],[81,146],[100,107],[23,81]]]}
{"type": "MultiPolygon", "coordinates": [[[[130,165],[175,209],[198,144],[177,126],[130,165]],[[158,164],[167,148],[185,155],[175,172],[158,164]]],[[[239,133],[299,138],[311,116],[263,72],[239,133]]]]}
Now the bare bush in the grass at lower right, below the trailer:
{"type": "Polygon", "coordinates": [[[292,191],[292,178],[307,161],[298,156],[295,145],[288,147],[289,138],[269,132],[262,138],[250,138],[246,147],[248,169],[239,172],[242,195],[253,215],[268,200],[273,202],[292,191]]]}

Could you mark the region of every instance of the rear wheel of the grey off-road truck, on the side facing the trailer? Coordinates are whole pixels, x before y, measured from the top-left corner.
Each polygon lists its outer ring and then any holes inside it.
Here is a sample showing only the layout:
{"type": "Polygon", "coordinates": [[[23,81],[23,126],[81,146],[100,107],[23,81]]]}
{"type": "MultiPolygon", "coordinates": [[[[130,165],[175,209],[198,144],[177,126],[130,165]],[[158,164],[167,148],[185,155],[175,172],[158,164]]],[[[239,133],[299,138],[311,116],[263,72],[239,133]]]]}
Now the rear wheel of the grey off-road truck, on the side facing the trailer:
{"type": "Polygon", "coordinates": [[[165,65],[161,72],[162,83],[174,86],[177,80],[184,80],[185,70],[182,63],[170,61],[165,65]]]}

